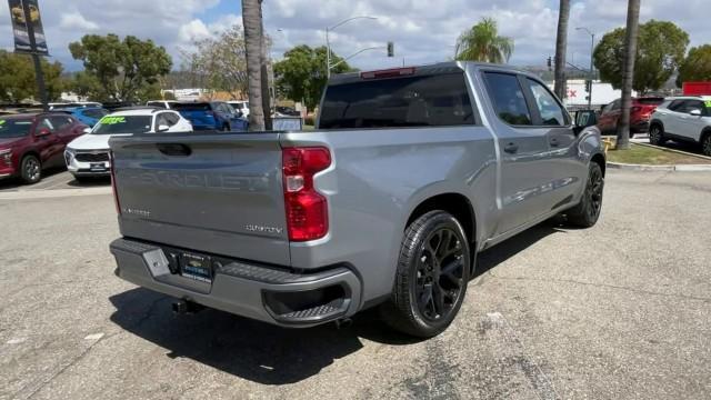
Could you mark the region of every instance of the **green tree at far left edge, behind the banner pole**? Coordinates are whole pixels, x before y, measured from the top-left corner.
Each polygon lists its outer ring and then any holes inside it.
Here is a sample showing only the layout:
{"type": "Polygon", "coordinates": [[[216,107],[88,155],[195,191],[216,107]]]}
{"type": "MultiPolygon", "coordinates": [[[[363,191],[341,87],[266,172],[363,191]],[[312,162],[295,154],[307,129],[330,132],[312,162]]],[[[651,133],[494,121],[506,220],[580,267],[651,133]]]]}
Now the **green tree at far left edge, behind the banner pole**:
{"type": "MultiPolygon", "coordinates": [[[[41,63],[48,98],[50,101],[57,100],[64,89],[62,64],[59,61],[48,62],[43,58],[41,63]]],[[[39,98],[31,58],[0,50],[0,101],[20,102],[39,98]]]]}

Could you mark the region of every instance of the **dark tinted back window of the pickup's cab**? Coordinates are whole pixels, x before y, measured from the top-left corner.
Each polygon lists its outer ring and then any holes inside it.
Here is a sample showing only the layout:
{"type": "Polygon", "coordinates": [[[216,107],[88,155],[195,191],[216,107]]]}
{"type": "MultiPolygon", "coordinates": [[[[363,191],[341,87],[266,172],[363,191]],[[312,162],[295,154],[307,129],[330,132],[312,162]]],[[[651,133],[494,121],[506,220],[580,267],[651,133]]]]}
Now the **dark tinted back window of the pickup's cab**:
{"type": "Polygon", "coordinates": [[[332,86],[322,108],[321,129],[474,124],[463,72],[332,86]]]}

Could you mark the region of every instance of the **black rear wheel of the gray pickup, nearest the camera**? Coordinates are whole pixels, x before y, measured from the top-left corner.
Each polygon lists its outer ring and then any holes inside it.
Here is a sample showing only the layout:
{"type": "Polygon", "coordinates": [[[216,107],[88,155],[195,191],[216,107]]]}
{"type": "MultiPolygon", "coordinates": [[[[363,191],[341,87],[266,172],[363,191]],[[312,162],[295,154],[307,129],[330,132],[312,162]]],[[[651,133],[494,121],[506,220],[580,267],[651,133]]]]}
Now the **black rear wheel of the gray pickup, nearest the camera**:
{"type": "Polygon", "coordinates": [[[414,220],[404,232],[392,293],[380,309],[383,321],[419,338],[444,331],[464,300],[471,257],[467,234],[450,213],[430,211],[414,220]]]}

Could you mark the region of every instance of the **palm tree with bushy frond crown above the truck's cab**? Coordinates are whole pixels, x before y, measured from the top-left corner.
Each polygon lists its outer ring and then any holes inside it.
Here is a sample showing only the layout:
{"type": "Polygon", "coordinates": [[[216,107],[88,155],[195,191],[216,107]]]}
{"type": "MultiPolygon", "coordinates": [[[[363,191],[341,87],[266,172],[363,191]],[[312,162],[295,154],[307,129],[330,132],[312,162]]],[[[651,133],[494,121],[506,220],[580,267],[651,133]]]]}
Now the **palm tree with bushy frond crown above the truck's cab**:
{"type": "Polygon", "coordinates": [[[504,63],[513,53],[513,39],[499,36],[493,18],[482,18],[457,39],[457,60],[504,63]]]}

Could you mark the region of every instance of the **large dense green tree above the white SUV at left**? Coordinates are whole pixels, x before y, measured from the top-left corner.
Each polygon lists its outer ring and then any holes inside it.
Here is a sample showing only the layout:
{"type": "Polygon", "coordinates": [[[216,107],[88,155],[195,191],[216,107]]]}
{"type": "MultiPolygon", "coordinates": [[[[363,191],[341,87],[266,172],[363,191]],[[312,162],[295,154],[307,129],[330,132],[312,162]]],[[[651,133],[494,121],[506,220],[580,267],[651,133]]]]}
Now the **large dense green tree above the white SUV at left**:
{"type": "MultiPolygon", "coordinates": [[[[91,89],[87,94],[96,100],[137,100],[147,92],[146,87],[157,84],[172,67],[163,47],[133,36],[120,40],[113,33],[87,34],[70,43],[69,50],[76,60],[83,61],[86,74],[96,80],[86,86],[91,89]]],[[[83,78],[83,83],[88,83],[89,78],[83,78]]]]}

